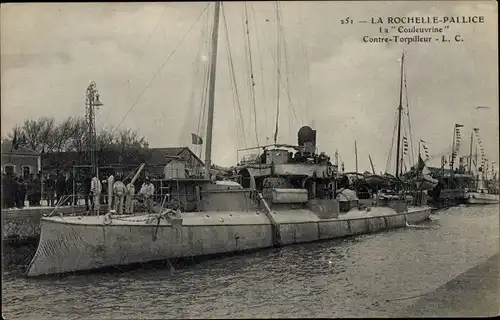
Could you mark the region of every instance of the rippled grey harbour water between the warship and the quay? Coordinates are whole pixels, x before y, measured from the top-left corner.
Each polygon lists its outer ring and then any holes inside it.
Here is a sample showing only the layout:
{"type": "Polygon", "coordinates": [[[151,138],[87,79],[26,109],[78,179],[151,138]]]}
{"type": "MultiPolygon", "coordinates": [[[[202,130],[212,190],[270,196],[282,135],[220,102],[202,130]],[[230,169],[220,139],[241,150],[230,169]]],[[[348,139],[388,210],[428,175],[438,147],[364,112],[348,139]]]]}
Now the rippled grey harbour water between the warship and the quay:
{"type": "Polygon", "coordinates": [[[26,279],[4,274],[7,319],[384,316],[499,250],[499,207],[418,228],[269,249],[184,267],[26,279]]]}

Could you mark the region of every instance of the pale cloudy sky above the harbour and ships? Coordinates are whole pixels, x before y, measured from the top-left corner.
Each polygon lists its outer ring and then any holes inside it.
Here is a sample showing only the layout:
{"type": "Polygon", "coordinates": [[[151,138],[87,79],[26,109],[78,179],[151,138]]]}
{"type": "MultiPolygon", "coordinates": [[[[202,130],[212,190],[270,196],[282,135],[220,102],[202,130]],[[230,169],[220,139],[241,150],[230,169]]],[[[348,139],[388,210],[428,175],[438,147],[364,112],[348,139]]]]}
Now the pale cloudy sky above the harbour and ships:
{"type": "MultiPolygon", "coordinates": [[[[275,2],[223,3],[213,163],[234,165],[242,154],[236,150],[256,146],[256,136],[260,145],[271,143],[279,97],[279,143],[296,144],[298,129],[309,125],[317,130],[319,150],[332,157],[338,150],[346,170],[355,169],[356,141],[359,171],[370,170],[368,155],[375,170],[384,171],[405,50],[404,97],[414,152],[420,139],[427,141],[429,164],[439,165],[441,155],[451,152],[458,123],[464,125],[461,155],[468,154],[470,132],[478,127],[486,155],[498,164],[495,1],[284,1],[280,23],[275,7],[275,2]],[[464,42],[410,45],[363,43],[364,35],[378,34],[378,26],[340,23],[347,17],[429,15],[482,15],[485,22],[451,25],[447,35],[460,34],[464,42]]],[[[150,147],[187,145],[200,154],[204,147],[192,146],[190,133],[205,137],[198,128],[206,123],[202,93],[213,16],[214,4],[204,2],[2,4],[2,137],[27,119],[84,116],[85,90],[95,81],[104,104],[96,114],[97,131],[130,128],[150,147]]]]}

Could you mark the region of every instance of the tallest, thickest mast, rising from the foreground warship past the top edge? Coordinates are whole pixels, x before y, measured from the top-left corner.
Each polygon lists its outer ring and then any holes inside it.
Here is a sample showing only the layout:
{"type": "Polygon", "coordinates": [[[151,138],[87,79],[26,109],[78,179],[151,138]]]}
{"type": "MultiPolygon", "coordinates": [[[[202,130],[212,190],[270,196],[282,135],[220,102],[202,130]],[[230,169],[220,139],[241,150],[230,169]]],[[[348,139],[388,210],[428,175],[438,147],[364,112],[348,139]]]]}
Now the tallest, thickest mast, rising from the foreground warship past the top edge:
{"type": "Polygon", "coordinates": [[[215,2],[214,26],[212,31],[212,58],[210,60],[210,82],[208,89],[208,119],[205,145],[205,178],[210,179],[212,166],[212,134],[214,125],[215,71],[217,67],[217,42],[219,39],[220,1],[215,2]]]}

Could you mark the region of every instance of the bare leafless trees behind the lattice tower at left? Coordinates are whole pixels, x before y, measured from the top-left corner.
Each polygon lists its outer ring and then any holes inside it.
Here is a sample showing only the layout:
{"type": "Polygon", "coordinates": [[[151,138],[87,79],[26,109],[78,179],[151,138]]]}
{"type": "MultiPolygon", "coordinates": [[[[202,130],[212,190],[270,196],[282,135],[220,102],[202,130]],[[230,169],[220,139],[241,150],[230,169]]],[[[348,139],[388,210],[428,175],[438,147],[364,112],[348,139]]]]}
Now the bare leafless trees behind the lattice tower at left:
{"type": "MultiPolygon", "coordinates": [[[[26,120],[16,125],[7,135],[7,140],[14,137],[27,148],[37,152],[85,151],[88,149],[88,124],[83,117],[70,117],[60,123],[54,118],[41,117],[38,120],[26,120]]],[[[120,131],[104,128],[96,137],[98,150],[144,148],[147,141],[136,131],[120,131]]]]}

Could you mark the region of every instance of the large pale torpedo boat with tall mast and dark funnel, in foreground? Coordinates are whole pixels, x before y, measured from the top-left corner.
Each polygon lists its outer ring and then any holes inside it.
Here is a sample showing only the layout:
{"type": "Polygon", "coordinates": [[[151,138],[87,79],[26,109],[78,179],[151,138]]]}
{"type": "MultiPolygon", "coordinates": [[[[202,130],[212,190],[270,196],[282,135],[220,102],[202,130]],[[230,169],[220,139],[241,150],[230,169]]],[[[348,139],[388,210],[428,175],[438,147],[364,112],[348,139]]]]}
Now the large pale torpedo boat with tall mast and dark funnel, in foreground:
{"type": "Polygon", "coordinates": [[[42,218],[28,276],[280,247],[428,219],[430,207],[402,193],[357,199],[336,189],[337,166],[316,153],[316,131],[307,126],[298,145],[260,147],[258,162],[238,168],[240,183],[209,176],[220,8],[216,2],[204,179],[179,179],[177,208],[154,214],[42,218]]]}

